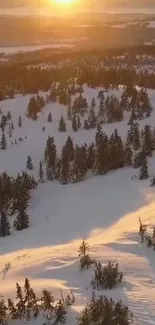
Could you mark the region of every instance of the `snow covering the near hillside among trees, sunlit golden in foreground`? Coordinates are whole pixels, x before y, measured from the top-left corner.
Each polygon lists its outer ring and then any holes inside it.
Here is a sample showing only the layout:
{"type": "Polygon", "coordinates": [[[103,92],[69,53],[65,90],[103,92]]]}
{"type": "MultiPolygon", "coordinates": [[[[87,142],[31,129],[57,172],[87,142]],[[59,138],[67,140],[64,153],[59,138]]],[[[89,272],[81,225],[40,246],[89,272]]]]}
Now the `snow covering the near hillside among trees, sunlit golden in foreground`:
{"type": "MultiPolygon", "coordinates": [[[[95,96],[98,106],[98,90],[84,87],[89,105],[95,96]]],[[[122,91],[120,87],[110,93],[120,98],[122,91]]],[[[154,110],[150,118],[139,121],[141,128],[145,124],[155,126],[155,92],[148,90],[148,93],[154,110]]],[[[29,95],[18,95],[0,103],[4,114],[11,111],[15,125],[12,139],[23,137],[23,142],[18,141],[17,145],[11,145],[8,138],[7,150],[0,151],[0,172],[7,170],[16,175],[25,170],[30,155],[37,178],[48,135],[55,137],[60,153],[68,135],[74,143],[91,143],[96,131],[81,129],[74,133],[71,122],[67,121],[67,132],[59,133],[59,119],[61,114],[67,117],[67,109],[58,103],[46,105],[38,120],[32,121],[26,117],[29,99],[29,95]],[[52,123],[47,122],[49,111],[52,123]],[[22,128],[17,126],[19,115],[23,120],[22,128]],[[42,126],[46,127],[44,132],[42,126]]],[[[103,130],[110,135],[117,128],[125,139],[128,119],[126,113],[122,122],[103,125],[103,130]]],[[[149,159],[150,175],[154,171],[153,157],[149,159]]],[[[69,312],[67,325],[75,325],[75,318],[92,294],[92,270],[79,271],[78,247],[86,238],[93,258],[103,263],[118,262],[124,273],[120,287],[100,293],[122,299],[134,314],[134,324],[155,324],[155,252],[141,244],[137,234],[139,217],[147,224],[155,223],[155,189],[150,188],[149,180],[132,180],[134,173],[132,168],[123,168],[105,176],[88,174],[77,184],[63,186],[56,181],[46,181],[33,190],[28,208],[30,228],[0,238],[1,294],[5,298],[15,298],[15,283],[18,281],[23,285],[25,277],[30,279],[36,293],[47,288],[60,298],[61,289],[65,296],[73,290],[76,302],[69,312]],[[4,274],[8,262],[11,268],[4,274]]],[[[42,319],[37,321],[38,325],[42,323],[42,319]]],[[[24,321],[13,324],[23,325],[24,321]]]]}

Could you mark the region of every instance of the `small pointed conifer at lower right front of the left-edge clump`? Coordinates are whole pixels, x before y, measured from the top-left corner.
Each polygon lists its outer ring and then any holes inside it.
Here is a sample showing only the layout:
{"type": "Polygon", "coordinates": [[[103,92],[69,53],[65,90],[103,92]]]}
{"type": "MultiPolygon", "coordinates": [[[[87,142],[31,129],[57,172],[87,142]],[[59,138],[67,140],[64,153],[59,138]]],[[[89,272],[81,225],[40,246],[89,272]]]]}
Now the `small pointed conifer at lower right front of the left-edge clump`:
{"type": "Polygon", "coordinates": [[[17,217],[14,221],[14,227],[16,230],[23,230],[29,227],[29,217],[25,211],[25,207],[21,202],[20,207],[18,208],[17,217]]]}

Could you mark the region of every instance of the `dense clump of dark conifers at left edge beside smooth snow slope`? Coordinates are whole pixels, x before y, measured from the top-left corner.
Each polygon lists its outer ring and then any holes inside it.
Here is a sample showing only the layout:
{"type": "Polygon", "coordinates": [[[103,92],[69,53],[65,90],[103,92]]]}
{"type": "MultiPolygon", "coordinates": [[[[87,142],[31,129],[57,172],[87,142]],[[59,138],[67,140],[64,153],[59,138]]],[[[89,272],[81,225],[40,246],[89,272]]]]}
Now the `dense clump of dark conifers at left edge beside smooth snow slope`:
{"type": "Polygon", "coordinates": [[[27,207],[30,191],[35,189],[37,182],[26,172],[18,174],[16,178],[6,172],[0,174],[0,237],[11,234],[10,217],[15,215],[13,226],[17,231],[29,227],[27,207]]]}

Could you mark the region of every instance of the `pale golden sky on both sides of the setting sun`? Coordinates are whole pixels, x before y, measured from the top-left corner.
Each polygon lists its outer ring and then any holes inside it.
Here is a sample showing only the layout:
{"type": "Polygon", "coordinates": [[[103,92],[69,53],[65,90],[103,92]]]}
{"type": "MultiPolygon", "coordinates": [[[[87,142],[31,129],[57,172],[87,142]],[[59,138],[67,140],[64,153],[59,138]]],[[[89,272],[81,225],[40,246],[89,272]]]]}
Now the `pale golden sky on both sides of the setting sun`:
{"type": "MultiPolygon", "coordinates": [[[[81,9],[115,12],[155,13],[155,0],[76,0],[81,9]]],[[[52,8],[55,0],[0,0],[0,13],[7,13],[6,8],[52,8]],[[2,9],[3,8],[3,9],[2,9]]],[[[25,12],[26,12],[25,9],[25,12]]]]}

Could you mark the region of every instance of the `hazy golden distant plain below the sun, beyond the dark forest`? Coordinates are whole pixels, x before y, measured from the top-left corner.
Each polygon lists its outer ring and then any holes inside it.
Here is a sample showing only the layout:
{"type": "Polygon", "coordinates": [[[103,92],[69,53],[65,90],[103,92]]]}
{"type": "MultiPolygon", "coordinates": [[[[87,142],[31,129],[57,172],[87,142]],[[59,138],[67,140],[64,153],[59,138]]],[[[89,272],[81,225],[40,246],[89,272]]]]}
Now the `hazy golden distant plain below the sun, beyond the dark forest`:
{"type": "MultiPolygon", "coordinates": [[[[144,15],[82,15],[70,19],[1,16],[0,47],[62,44],[85,47],[142,45],[155,39],[155,18],[144,15]],[[20,28],[19,28],[20,26],[20,28]],[[5,30],[5,33],[4,33],[5,30]],[[10,33],[11,31],[11,33],[10,33]]],[[[2,53],[2,50],[0,51],[2,53]]]]}

